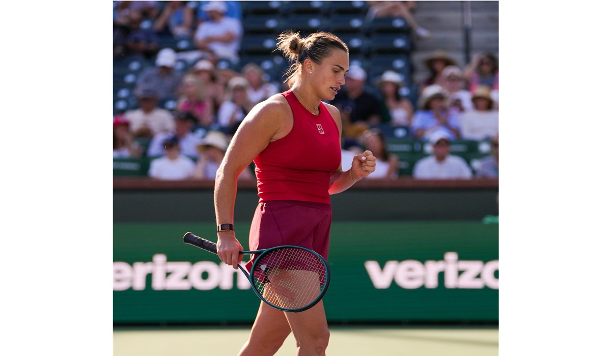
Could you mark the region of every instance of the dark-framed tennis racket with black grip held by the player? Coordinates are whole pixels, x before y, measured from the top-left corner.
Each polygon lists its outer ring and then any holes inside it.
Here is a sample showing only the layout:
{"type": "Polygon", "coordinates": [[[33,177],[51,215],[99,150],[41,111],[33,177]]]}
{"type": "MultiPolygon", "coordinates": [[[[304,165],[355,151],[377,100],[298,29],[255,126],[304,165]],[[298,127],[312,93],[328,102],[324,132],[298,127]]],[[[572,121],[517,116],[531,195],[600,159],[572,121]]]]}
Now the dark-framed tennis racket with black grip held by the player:
{"type": "MultiPolygon", "coordinates": [[[[185,244],[216,253],[216,244],[190,232],[185,244]]],[[[312,308],[329,288],[331,273],[323,256],[305,247],[282,245],[271,249],[240,251],[256,256],[250,273],[238,267],[251,282],[255,294],[271,307],[298,312],[312,308]]]]}

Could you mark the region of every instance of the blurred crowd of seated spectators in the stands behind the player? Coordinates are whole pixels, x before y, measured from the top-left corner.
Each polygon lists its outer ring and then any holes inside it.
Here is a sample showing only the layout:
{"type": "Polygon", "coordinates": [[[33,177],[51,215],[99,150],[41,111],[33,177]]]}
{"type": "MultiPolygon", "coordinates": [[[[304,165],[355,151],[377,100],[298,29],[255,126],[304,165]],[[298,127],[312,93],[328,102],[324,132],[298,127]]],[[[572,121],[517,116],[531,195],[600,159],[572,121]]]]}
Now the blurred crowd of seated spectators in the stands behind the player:
{"type": "MultiPolygon", "coordinates": [[[[372,9],[368,17],[394,16],[381,4],[372,9]]],[[[431,36],[408,10],[401,13],[418,26],[417,36],[431,36]]],[[[289,89],[270,81],[260,64],[240,58],[242,20],[240,1],[114,1],[114,60],[144,63],[133,86],[136,104],[113,117],[115,159],[150,159],[153,179],[214,180],[244,117],[289,89]],[[184,39],[192,48],[179,51],[163,38],[184,39]],[[168,102],[174,106],[163,105],[168,102]]],[[[404,128],[406,138],[430,147],[414,162],[415,179],[498,178],[497,56],[478,54],[461,68],[439,50],[424,64],[430,74],[415,83],[415,98],[404,95],[411,78],[392,68],[369,78],[364,68],[350,66],[345,85],[329,101],[342,114],[342,154],[371,150],[378,169],[368,179],[396,179],[400,158],[389,151],[385,135],[387,128],[404,128]],[[469,162],[452,154],[457,140],[487,142],[490,154],[469,162]]],[[[254,173],[247,169],[240,179],[253,180],[254,173]]]]}

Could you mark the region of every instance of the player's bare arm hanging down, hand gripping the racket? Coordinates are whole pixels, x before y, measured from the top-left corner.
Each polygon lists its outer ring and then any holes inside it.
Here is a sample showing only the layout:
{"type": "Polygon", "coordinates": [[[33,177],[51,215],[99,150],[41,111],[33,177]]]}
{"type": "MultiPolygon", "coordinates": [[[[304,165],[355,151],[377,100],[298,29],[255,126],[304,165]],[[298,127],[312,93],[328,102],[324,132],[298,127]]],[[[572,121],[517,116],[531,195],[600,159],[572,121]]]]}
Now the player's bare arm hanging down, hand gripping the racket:
{"type": "MultiPolygon", "coordinates": [[[[269,142],[279,138],[287,117],[290,118],[288,104],[273,96],[257,104],[244,118],[216,172],[214,211],[217,224],[233,223],[238,176],[269,142]]],[[[243,247],[235,238],[234,231],[218,233],[217,251],[221,261],[237,269],[242,258],[238,253],[240,250],[243,247]]]]}

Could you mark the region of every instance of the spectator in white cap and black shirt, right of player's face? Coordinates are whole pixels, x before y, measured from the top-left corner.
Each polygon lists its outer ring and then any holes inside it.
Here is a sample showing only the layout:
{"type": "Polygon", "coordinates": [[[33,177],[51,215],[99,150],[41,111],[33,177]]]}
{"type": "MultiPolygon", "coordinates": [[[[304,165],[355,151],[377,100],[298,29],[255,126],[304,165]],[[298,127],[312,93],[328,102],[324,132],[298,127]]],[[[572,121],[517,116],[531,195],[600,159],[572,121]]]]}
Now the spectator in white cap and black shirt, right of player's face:
{"type": "MultiPolygon", "coordinates": [[[[348,69],[346,84],[342,86],[330,104],[342,112],[346,129],[351,125],[362,126],[364,129],[378,125],[382,122],[382,108],[378,97],[365,89],[367,72],[358,65],[351,65],[348,69]]],[[[360,130],[356,131],[357,134],[362,133],[358,131],[360,130]]],[[[349,131],[346,131],[345,134],[355,137],[349,131]]]]}

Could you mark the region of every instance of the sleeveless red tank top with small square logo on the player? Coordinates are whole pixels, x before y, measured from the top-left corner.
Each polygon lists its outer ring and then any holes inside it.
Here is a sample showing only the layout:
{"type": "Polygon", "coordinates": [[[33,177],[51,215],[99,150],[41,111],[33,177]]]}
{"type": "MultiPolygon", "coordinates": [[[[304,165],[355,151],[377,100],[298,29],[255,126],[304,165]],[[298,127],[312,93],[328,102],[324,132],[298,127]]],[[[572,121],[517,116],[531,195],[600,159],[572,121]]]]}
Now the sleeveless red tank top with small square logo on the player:
{"type": "Polygon", "coordinates": [[[254,160],[259,202],[331,204],[331,174],[341,162],[337,124],[323,103],[316,116],[299,103],[291,90],[281,94],[293,111],[293,128],[282,139],[269,142],[254,160]]]}

